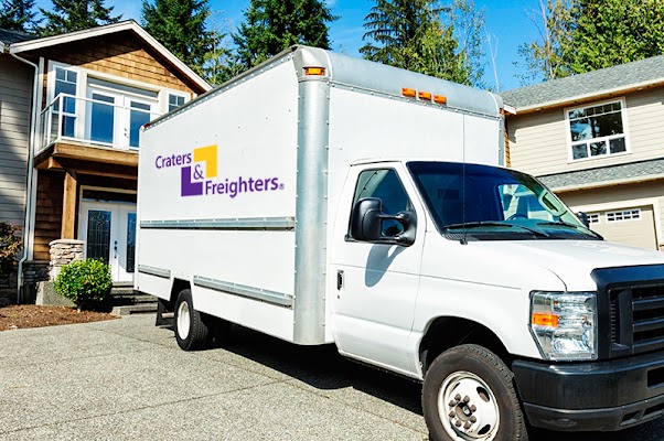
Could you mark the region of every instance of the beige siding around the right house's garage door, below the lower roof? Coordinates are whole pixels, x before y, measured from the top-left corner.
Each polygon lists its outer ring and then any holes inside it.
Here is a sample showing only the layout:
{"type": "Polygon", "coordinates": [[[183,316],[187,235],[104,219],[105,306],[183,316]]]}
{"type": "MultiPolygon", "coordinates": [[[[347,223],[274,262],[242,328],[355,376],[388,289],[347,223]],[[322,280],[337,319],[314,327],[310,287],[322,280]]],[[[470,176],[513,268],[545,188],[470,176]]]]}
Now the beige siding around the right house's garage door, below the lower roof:
{"type": "MultiPolygon", "coordinates": [[[[640,184],[614,185],[603,189],[582,190],[576,192],[559,193],[558,196],[569,205],[574,211],[579,207],[598,206],[601,209],[588,209],[589,212],[620,211],[626,208],[636,208],[642,206],[639,200],[649,200],[654,202],[653,209],[655,219],[655,230],[657,232],[658,247],[664,247],[664,181],[652,181],[640,184]]],[[[645,237],[647,232],[631,232],[632,234],[645,237]]]]}

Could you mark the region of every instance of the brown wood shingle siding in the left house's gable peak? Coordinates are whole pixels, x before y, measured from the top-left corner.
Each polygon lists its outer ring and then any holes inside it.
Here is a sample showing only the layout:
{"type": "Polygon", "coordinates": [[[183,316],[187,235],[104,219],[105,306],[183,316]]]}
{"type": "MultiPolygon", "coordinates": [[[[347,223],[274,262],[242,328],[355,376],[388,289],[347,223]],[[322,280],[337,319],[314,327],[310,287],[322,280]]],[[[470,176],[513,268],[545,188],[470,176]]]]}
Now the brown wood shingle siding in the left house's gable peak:
{"type": "Polygon", "coordinates": [[[153,86],[194,94],[203,92],[129,31],[47,47],[41,50],[40,55],[49,61],[153,86]]]}

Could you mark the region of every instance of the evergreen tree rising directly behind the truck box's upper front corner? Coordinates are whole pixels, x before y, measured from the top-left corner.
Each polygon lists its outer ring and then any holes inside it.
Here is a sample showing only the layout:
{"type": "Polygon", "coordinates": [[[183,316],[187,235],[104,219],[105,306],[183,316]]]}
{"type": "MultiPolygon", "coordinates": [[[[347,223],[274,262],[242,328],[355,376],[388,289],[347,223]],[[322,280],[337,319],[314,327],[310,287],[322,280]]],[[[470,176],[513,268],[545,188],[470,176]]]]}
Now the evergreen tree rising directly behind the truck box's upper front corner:
{"type": "Polygon", "coordinates": [[[321,0],[251,0],[233,35],[237,63],[249,68],[293,44],[330,49],[328,23],[336,19],[321,0]]]}

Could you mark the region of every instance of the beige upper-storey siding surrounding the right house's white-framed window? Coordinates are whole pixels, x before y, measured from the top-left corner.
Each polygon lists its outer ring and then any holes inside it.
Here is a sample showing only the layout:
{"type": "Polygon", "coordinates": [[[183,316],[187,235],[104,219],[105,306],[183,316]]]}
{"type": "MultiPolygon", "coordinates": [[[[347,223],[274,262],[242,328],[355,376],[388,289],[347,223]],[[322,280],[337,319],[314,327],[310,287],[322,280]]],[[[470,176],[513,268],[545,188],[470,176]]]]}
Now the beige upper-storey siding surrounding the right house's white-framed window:
{"type": "MultiPolygon", "coordinates": [[[[565,109],[557,108],[510,117],[512,166],[531,174],[547,175],[662,158],[664,88],[643,90],[624,98],[630,153],[569,161],[565,109]]],[[[591,105],[592,103],[587,104],[591,105]]]]}

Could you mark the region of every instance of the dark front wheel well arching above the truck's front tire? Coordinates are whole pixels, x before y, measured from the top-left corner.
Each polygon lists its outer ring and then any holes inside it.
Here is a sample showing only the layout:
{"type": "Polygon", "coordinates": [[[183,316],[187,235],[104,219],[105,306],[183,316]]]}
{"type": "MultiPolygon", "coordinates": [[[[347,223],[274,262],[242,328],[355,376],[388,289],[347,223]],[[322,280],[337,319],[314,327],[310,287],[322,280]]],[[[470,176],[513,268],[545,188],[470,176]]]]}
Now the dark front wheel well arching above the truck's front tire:
{"type": "Polygon", "coordinates": [[[501,340],[486,326],[459,318],[438,318],[429,325],[419,346],[422,374],[433,359],[450,347],[476,344],[497,355],[507,366],[511,356],[501,340]]]}

